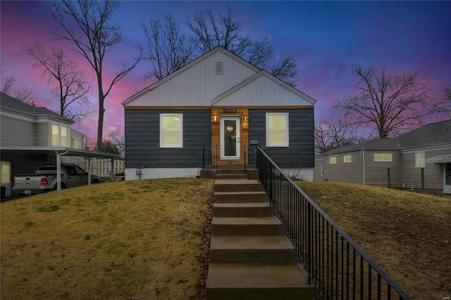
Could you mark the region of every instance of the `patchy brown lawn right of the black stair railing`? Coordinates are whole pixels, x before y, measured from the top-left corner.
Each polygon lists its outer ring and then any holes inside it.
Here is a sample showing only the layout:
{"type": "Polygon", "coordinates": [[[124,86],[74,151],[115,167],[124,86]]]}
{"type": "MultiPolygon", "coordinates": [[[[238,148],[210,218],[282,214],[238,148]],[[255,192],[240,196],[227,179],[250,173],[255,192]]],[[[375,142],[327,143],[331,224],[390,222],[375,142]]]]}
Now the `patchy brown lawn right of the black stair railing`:
{"type": "Polygon", "coordinates": [[[297,182],[414,299],[450,299],[451,198],[297,182]]]}

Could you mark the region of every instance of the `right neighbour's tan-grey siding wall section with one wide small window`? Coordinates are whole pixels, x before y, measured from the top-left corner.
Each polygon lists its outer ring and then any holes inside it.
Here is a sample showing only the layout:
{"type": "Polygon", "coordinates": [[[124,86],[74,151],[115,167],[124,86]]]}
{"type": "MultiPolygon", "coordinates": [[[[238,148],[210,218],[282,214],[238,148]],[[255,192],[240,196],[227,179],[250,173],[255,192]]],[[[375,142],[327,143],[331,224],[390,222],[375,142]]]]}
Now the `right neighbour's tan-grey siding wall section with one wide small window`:
{"type": "Polygon", "coordinates": [[[365,150],[365,185],[388,186],[390,168],[391,187],[401,185],[401,153],[398,150],[365,150]],[[374,154],[392,154],[393,161],[374,161],[374,154]]]}

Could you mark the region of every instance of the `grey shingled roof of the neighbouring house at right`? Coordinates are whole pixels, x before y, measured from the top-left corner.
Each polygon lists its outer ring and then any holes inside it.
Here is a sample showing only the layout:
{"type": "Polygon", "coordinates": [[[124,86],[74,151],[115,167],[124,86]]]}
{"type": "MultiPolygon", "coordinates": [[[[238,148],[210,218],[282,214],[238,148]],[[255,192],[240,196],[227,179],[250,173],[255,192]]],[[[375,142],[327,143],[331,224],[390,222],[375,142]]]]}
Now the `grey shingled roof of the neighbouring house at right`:
{"type": "Polygon", "coordinates": [[[370,139],[368,141],[341,146],[323,153],[323,155],[339,154],[357,150],[405,150],[428,146],[451,145],[451,120],[431,123],[404,133],[393,139],[370,139]]]}

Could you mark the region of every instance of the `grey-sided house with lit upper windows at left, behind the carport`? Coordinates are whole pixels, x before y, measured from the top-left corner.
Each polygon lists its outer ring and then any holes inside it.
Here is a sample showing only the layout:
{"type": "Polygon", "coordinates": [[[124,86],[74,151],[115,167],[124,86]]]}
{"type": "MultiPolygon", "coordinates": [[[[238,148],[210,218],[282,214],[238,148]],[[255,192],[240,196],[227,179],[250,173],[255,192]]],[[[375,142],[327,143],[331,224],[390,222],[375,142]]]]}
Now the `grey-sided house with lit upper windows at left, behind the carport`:
{"type": "MultiPolygon", "coordinates": [[[[7,94],[0,96],[1,186],[11,196],[14,175],[35,173],[40,165],[78,163],[75,156],[92,156],[83,150],[83,135],[73,121],[47,108],[30,106],[7,94]],[[66,156],[63,156],[66,154],[66,156]]],[[[116,155],[106,155],[111,157],[116,155]]]]}

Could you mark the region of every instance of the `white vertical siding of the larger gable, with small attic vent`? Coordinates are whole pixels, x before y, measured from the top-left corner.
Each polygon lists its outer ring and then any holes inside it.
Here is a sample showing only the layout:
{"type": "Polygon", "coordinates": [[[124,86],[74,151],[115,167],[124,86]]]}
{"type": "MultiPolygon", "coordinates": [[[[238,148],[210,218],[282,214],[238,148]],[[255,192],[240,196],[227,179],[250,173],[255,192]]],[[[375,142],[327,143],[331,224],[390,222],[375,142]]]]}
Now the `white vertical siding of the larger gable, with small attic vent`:
{"type": "Polygon", "coordinates": [[[222,51],[182,69],[183,72],[166,77],[168,80],[161,80],[161,85],[156,82],[153,89],[127,106],[211,106],[211,99],[257,73],[255,68],[222,51]],[[222,74],[216,74],[216,62],[223,63],[222,74]]]}

